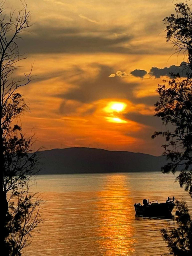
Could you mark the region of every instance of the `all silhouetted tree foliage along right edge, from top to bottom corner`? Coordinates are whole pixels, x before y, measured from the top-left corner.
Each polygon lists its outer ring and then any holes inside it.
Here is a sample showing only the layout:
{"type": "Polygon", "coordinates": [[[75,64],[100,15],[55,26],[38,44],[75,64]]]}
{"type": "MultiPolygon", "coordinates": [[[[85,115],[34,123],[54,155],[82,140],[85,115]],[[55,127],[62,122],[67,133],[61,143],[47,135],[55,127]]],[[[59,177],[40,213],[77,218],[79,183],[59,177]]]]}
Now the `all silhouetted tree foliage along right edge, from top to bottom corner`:
{"type": "MultiPolygon", "coordinates": [[[[164,19],[166,23],[167,42],[171,41],[175,52],[183,51],[188,55],[186,68],[188,77],[181,79],[172,74],[172,80],[164,80],[158,85],[157,93],[160,100],[155,104],[155,116],[161,118],[165,125],[164,131],[155,132],[165,137],[164,155],[168,163],[162,167],[163,173],[175,174],[181,187],[192,197],[192,14],[187,4],[175,5],[176,14],[164,19]]],[[[192,220],[186,202],[176,201],[178,227],[172,230],[161,230],[170,254],[187,256],[192,253],[192,220]]]]}

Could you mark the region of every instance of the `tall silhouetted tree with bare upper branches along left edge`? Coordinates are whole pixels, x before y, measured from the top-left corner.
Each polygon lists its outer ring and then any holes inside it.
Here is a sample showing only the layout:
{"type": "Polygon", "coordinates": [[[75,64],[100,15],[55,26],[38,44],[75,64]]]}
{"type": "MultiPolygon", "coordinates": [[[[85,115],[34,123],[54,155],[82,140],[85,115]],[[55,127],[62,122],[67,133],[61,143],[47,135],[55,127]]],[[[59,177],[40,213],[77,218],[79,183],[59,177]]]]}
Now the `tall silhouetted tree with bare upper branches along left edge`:
{"type": "Polygon", "coordinates": [[[4,255],[21,255],[29,243],[31,231],[41,221],[39,200],[29,193],[28,181],[38,172],[36,154],[29,156],[33,137],[25,138],[18,124],[27,104],[18,88],[31,80],[13,79],[18,62],[25,57],[19,54],[20,33],[31,26],[30,13],[23,9],[6,15],[0,3],[0,172],[1,172],[1,250],[4,255]]]}

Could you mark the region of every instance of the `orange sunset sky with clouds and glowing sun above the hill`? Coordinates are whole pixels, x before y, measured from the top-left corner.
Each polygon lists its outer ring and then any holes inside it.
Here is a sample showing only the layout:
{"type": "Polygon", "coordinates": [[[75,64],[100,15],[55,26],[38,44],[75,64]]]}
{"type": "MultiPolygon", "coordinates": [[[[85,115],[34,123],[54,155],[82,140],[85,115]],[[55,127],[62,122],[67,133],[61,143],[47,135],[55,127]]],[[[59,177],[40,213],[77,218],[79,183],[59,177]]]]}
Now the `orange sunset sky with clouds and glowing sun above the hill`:
{"type": "MultiPolygon", "coordinates": [[[[23,132],[32,129],[36,149],[90,145],[160,155],[162,139],[151,139],[162,127],[153,117],[155,90],[184,60],[171,56],[163,31],[176,1],[27,3],[34,25],[21,35],[28,58],[17,75],[34,63],[35,79],[20,92],[30,107],[23,132]]],[[[5,6],[21,7],[19,0],[5,6]]]]}

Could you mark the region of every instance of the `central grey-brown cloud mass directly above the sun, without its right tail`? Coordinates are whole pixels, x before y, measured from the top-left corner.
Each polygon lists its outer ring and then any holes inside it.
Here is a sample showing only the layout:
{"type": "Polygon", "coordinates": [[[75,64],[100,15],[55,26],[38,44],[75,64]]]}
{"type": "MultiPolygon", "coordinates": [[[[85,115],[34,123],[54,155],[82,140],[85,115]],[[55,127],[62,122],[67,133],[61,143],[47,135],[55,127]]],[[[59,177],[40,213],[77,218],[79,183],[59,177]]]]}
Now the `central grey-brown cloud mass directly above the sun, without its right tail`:
{"type": "Polygon", "coordinates": [[[54,96],[83,103],[105,98],[130,99],[133,97],[132,90],[138,85],[137,83],[127,83],[118,76],[109,77],[113,72],[109,66],[93,64],[92,67],[99,68],[99,73],[94,79],[82,78],[74,81],[71,83],[73,88],[54,96]]]}

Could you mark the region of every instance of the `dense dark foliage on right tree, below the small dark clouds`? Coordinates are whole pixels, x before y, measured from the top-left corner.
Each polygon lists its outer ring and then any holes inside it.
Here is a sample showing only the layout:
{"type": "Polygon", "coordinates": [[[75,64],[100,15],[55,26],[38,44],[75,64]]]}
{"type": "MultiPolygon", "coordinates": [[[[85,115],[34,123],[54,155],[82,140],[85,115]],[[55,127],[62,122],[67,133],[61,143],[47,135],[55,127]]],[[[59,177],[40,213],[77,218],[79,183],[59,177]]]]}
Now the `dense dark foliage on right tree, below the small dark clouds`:
{"type": "Polygon", "coordinates": [[[155,104],[155,116],[163,124],[170,124],[170,129],[155,132],[152,138],[165,137],[164,155],[169,162],[162,168],[163,173],[180,170],[176,179],[192,196],[192,81],[174,78],[164,83],[157,88],[160,101],[155,104]]]}

